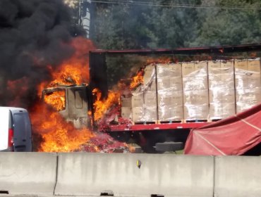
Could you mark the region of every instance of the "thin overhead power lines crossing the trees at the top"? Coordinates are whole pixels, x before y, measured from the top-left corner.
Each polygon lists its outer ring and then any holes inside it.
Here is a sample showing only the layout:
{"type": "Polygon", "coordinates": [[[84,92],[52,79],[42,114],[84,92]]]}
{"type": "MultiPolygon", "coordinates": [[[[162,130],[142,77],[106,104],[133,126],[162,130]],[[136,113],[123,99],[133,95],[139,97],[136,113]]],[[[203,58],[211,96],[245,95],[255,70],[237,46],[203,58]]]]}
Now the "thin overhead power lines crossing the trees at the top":
{"type": "Polygon", "coordinates": [[[257,10],[260,11],[261,7],[245,7],[245,6],[204,6],[196,4],[159,4],[149,1],[104,1],[104,0],[92,0],[94,3],[101,4],[128,4],[128,5],[139,5],[139,6],[159,6],[169,8],[214,8],[214,9],[229,9],[229,10],[257,10]]]}

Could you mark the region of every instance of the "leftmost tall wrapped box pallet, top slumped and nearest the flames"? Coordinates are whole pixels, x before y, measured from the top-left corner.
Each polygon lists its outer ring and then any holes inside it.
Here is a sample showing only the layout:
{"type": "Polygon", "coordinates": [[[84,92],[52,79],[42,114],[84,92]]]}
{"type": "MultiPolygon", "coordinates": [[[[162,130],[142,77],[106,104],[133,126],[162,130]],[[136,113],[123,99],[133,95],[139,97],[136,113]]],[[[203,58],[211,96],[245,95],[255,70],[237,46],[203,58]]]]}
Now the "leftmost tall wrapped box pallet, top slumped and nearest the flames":
{"type": "Polygon", "coordinates": [[[154,64],[144,70],[143,84],[132,92],[133,122],[157,120],[156,70],[154,64]]]}

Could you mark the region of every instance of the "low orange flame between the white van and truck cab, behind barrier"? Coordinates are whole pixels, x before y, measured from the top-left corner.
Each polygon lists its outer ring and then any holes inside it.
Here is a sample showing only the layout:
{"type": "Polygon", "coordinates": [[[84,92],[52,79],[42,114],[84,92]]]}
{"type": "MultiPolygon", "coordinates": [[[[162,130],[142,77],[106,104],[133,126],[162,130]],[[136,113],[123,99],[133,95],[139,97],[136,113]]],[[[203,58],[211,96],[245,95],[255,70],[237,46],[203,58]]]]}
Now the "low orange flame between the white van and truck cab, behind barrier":
{"type": "Polygon", "coordinates": [[[94,134],[88,129],[76,130],[57,112],[44,104],[38,105],[31,114],[33,129],[40,132],[43,142],[38,151],[71,152],[88,141],[94,134]]]}

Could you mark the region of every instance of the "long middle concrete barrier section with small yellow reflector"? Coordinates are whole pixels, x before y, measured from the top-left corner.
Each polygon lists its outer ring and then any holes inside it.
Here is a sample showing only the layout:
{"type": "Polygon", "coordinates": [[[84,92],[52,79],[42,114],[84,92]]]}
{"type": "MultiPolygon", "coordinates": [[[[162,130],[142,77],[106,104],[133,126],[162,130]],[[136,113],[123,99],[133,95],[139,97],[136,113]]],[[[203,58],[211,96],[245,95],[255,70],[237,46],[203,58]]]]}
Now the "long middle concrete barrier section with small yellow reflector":
{"type": "Polygon", "coordinates": [[[213,196],[213,190],[213,157],[59,153],[54,194],[202,197],[213,196]]]}

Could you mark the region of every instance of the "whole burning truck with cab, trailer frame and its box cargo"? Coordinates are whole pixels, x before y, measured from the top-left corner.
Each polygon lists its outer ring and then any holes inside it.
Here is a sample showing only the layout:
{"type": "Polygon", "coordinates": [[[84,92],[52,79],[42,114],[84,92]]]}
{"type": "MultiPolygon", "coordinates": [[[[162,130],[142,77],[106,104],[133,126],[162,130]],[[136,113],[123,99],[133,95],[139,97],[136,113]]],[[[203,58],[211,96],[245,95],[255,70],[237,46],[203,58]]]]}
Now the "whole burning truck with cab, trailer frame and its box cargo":
{"type": "Polygon", "coordinates": [[[138,144],[147,153],[178,151],[183,149],[191,128],[260,103],[260,59],[221,57],[224,53],[260,49],[260,45],[241,45],[90,51],[90,84],[76,82],[70,73],[64,77],[66,84],[56,83],[44,89],[42,99],[58,103],[56,110],[75,128],[97,126],[114,139],[138,144]],[[109,91],[106,56],[124,54],[208,54],[219,58],[181,63],[154,61],[139,70],[128,84],[128,91],[109,91]]]}

